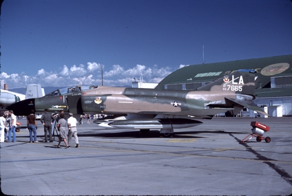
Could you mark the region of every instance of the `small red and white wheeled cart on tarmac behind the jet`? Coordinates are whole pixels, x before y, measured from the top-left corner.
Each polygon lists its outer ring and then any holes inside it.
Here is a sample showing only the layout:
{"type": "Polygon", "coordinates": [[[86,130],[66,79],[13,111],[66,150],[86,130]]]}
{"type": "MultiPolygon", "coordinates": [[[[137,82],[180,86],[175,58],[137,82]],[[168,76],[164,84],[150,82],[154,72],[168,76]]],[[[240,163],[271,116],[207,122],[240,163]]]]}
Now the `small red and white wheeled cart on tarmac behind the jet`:
{"type": "Polygon", "coordinates": [[[251,135],[251,137],[249,139],[247,139],[249,137],[249,135],[247,135],[247,137],[245,137],[241,142],[247,142],[249,140],[251,140],[251,138],[256,137],[256,141],[260,142],[262,140],[265,140],[267,143],[271,142],[271,138],[270,137],[266,137],[264,138],[264,132],[270,131],[270,127],[267,126],[266,124],[262,124],[260,122],[251,122],[251,127],[253,127],[253,129],[251,129],[251,131],[253,132],[251,135]],[[247,140],[245,140],[247,139],[247,140]]]}

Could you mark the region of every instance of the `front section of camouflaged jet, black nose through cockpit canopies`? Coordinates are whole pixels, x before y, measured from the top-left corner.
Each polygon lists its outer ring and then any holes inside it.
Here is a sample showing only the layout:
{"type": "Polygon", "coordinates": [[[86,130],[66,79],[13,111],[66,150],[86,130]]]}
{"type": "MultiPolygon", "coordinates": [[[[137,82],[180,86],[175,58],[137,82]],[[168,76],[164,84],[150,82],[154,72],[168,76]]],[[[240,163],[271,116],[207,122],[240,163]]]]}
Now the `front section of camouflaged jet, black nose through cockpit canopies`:
{"type": "Polygon", "coordinates": [[[8,110],[13,110],[17,116],[27,116],[30,111],[34,109],[36,113],[43,113],[45,109],[49,109],[49,112],[54,113],[55,111],[64,110],[68,112],[67,107],[67,96],[76,96],[83,94],[84,91],[95,89],[97,86],[81,86],[65,87],[63,89],[56,89],[49,94],[41,98],[28,98],[15,102],[14,104],[6,107],[8,110]]]}

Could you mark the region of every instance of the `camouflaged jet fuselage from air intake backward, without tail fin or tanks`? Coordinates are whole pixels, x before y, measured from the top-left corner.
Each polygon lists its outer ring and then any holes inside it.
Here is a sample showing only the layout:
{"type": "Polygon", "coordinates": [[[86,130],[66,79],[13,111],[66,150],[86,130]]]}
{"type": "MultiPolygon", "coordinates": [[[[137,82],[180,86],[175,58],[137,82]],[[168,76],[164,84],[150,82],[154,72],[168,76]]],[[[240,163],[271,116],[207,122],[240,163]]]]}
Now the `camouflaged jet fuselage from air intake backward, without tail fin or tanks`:
{"type": "MultiPolygon", "coordinates": [[[[207,91],[172,91],[103,87],[80,96],[82,113],[140,113],[161,114],[205,109],[209,102],[224,100],[235,94],[208,94],[207,91]],[[114,94],[103,94],[115,91],[114,94]],[[99,91],[100,90],[100,91],[99,91]]],[[[73,97],[72,97],[73,98],[73,97]]],[[[77,98],[74,96],[74,98],[77,98]]],[[[69,101],[70,102],[70,101],[69,101]]]]}

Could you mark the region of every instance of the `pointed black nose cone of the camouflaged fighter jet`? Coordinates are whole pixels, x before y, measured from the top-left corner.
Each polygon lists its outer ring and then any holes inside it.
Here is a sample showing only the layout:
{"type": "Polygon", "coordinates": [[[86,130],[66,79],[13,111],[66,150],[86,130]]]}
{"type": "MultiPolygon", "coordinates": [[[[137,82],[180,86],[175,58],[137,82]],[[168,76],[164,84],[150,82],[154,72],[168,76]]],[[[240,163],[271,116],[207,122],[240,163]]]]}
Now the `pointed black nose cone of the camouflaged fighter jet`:
{"type": "Polygon", "coordinates": [[[6,109],[13,110],[14,115],[16,116],[28,116],[32,109],[35,111],[34,105],[34,98],[30,98],[15,102],[14,104],[6,107],[6,109]]]}

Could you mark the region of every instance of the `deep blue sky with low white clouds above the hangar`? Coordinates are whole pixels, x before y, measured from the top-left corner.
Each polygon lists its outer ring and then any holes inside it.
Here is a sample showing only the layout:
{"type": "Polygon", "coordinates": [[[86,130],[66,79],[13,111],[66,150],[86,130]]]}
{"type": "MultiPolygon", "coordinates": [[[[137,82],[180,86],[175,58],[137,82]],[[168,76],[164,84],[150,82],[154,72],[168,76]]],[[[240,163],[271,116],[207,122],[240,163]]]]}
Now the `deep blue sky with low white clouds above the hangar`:
{"type": "Polygon", "coordinates": [[[5,0],[1,87],[158,83],[187,65],[292,54],[292,2],[5,0]]]}

